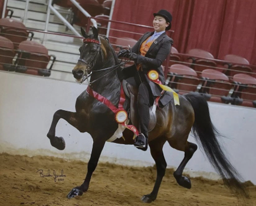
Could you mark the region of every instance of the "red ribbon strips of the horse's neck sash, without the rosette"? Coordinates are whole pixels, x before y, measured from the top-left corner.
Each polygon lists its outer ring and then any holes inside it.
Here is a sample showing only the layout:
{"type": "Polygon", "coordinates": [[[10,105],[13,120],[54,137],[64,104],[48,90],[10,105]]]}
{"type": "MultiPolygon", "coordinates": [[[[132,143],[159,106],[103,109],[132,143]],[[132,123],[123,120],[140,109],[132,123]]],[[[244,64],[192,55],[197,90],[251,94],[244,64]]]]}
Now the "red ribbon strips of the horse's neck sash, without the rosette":
{"type": "MultiPolygon", "coordinates": [[[[123,104],[125,99],[125,95],[124,95],[124,91],[123,91],[123,84],[121,83],[121,89],[120,89],[120,100],[119,100],[119,105],[118,108],[113,105],[109,99],[103,97],[102,95],[100,95],[99,93],[97,93],[96,91],[93,91],[93,89],[90,88],[90,86],[87,87],[86,89],[87,93],[97,99],[98,101],[102,102],[104,105],[106,105],[108,108],[111,109],[111,111],[114,112],[114,114],[116,114],[116,112],[120,111],[120,110],[124,110],[123,108],[123,104]]],[[[134,127],[133,125],[126,125],[125,122],[120,123],[121,125],[123,125],[124,127],[126,127],[127,129],[130,129],[130,131],[132,131],[136,136],[139,135],[139,131],[137,130],[136,127],[134,127]]]]}

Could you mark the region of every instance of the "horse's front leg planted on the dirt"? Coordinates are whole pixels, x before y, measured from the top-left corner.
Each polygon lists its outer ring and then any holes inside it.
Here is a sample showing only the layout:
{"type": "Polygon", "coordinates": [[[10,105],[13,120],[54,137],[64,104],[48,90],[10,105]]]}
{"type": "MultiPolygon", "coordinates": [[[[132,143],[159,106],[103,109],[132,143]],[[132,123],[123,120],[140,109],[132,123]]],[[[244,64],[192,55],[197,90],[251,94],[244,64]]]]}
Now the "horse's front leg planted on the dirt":
{"type": "Polygon", "coordinates": [[[90,161],[88,162],[86,179],[84,180],[83,184],[81,184],[81,186],[73,188],[70,193],[68,193],[67,198],[70,199],[76,197],[77,195],[82,195],[83,192],[88,190],[91,181],[91,175],[93,175],[93,172],[98,165],[100,154],[104,148],[104,145],[105,141],[102,139],[93,142],[93,150],[91,152],[90,161]]]}

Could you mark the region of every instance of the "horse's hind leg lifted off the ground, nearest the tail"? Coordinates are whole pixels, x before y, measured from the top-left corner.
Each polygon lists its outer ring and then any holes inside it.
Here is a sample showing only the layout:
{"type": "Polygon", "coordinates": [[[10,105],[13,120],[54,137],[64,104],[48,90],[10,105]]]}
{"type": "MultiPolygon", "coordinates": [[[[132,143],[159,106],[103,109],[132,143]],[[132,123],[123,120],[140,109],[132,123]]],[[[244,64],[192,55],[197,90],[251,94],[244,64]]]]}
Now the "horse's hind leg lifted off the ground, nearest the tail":
{"type": "Polygon", "coordinates": [[[177,170],[173,173],[173,175],[180,186],[190,189],[191,181],[188,177],[183,176],[182,173],[184,168],[186,167],[186,164],[192,158],[198,146],[188,141],[186,141],[184,145],[178,145],[175,141],[169,141],[169,144],[171,147],[185,152],[182,162],[180,163],[177,170]]]}

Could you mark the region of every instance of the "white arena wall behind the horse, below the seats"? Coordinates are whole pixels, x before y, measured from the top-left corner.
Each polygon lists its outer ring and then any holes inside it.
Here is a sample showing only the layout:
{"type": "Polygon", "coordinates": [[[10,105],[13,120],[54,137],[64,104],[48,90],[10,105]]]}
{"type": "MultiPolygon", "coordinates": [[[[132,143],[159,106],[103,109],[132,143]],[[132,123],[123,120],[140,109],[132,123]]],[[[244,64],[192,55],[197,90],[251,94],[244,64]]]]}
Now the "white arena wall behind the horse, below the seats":
{"type": "MultiPolygon", "coordinates": [[[[46,137],[54,112],[74,111],[76,98],[86,87],[76,82],[1,71],[0,152],[88,161],[93,144],[90,135],[80,133],[63,119],[57,125],[56,135],[64,137],[64,151],[51,147],[46,137]]],[[[212,102],[209,108],[215,127],[227,137],[221,138],[225,153],[244,180],[256,184],[256,109],[212,102]]],[[[195,139],[189,137],[189,141],[195,142],[195,139]]],[[[168,167],[178,167],[183,158],[183,152],[170,148],[169,144],[165,144],[164,154],[168,167]]],[[[149,149],[143,152],[133,145],[109,142],[100,158],[100,162],[106,161],[145,167],[154,164],[149,149]]],[[[195,152],[185,171],[192,177],[218,178],[201,149],[195,152]]]]}

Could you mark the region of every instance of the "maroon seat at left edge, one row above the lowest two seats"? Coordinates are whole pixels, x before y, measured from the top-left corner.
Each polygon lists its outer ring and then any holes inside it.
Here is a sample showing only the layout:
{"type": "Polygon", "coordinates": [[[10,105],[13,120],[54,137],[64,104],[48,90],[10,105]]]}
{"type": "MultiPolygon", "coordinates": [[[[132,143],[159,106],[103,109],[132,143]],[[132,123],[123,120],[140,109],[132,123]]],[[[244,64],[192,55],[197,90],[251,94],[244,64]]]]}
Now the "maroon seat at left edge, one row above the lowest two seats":
{"type": "Polygon", "coordinates": [[[20,42],[27,40],[29,34],[31,34],[30,40],[34,36],[33,32],[26,31],[26,26],[22,22],[15,19],[0,19],[0,29],[0,35],[10,39],[14,43],[15,49],[18,48],[20,42]]]}

